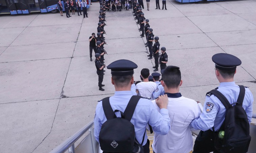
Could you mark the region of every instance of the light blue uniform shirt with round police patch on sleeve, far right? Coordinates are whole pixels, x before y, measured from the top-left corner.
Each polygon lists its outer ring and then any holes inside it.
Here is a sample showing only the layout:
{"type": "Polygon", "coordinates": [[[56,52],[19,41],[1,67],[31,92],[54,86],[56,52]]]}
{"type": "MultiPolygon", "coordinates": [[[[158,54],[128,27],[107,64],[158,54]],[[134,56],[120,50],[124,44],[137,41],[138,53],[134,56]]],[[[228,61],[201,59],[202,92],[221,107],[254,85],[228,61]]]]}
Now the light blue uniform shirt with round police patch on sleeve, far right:
{"type": "MultiPolygon", "coordinates": [[[[228,99],[230,104],[236,102],[240,92],[240,88],[235,82],[222,82],[217,90],[228,99]]],[[[252,121],[252,104],[252,92],[248,88],[245,88],[245,96],[242,106],[247,113],[249,123],[252,121]]],[[[225,119],[225,113],[225,106],[216,96],[206,96],[202,114],[199,118],[191,122],[190,127],[202,131],[212,130],[212,127],[214,127],[214,130],[217,131],[220,129],[225,119]]]]}

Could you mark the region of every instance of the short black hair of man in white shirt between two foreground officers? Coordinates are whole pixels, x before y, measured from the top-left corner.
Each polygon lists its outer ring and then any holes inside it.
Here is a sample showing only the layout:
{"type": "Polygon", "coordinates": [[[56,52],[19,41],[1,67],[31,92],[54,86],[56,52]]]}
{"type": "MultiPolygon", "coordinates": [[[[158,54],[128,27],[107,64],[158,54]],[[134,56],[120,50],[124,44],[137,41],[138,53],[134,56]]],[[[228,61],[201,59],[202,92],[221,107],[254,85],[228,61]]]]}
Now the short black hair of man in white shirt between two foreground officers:
{"type": "Polygon", "coordinates": [[[167,66],[162,74],[162,79],[167,88],[177,88],[180,85],[181,73],[177,66],[167,66]]]}

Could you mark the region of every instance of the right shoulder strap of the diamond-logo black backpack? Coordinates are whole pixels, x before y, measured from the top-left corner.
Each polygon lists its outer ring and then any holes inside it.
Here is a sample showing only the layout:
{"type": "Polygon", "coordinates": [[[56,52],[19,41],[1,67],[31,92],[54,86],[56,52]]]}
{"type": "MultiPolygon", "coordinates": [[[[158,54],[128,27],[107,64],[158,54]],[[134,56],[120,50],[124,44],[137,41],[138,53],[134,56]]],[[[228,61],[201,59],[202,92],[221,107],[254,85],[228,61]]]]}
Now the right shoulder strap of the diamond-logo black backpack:
{"type": "Polygon", "coordinates": [[[132,115],[135,111],[135,108],[137,106],[137,103],[140,100],[140,96],[132,96],[132,98],[130,99],[129,103],[127,104],[125,110],[124,110],[124,116],[126,120],[131,121],[132,119],[132,115]]]}

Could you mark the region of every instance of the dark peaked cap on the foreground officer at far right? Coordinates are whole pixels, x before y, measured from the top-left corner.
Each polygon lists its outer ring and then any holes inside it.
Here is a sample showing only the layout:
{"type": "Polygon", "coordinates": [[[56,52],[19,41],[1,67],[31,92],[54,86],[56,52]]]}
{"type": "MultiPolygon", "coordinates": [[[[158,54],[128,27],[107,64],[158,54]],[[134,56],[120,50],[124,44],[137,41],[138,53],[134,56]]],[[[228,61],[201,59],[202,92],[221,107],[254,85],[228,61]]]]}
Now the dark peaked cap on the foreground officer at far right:
{"type": "Polygon", "coordinates": [[[212,56],[215,67],[221,70],[234,70],[236,66],[242,64],[241,60],[234,55],[218,53],[212,56]]]}

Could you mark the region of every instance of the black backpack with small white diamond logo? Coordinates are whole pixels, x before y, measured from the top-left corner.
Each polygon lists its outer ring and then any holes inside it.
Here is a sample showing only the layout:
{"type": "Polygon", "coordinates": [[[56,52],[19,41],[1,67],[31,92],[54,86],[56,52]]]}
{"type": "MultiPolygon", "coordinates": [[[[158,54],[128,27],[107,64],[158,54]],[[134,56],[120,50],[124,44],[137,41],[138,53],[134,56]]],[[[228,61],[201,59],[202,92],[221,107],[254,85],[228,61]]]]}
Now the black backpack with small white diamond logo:
{"type": "Polygon", "coordinates": [[[130,122],[140,98],[140,96],[132,96],[124,113],[119,110],[113,111],[109,97],[102,99],[102,107],[107,121],[101,126],[99,142],[100,149],[104,153],[144,153],[142,144],[146,129],[140,144],[135,138],[134,125],[130,122]],[[121,118],[116,117],[116,112],[121,113],[121,118]]]}

